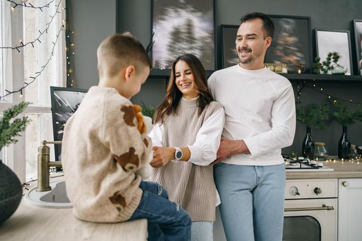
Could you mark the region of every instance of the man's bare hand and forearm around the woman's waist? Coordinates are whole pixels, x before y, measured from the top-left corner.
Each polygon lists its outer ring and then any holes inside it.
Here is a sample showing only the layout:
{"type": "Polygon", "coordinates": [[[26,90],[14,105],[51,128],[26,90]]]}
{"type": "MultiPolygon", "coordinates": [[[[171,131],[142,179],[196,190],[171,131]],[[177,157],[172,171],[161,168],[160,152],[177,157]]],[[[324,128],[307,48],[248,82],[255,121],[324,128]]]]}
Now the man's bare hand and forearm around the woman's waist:
{"type": "Polygon", "coordinates": [[[221,138],[219,150],[217,150],[217,159],[214,160],[211,165],[220,163],[221,160],[230,158],[235,154],[250,154],[248,147],[243,140],[229,140],[227,138],[221,138]]]}

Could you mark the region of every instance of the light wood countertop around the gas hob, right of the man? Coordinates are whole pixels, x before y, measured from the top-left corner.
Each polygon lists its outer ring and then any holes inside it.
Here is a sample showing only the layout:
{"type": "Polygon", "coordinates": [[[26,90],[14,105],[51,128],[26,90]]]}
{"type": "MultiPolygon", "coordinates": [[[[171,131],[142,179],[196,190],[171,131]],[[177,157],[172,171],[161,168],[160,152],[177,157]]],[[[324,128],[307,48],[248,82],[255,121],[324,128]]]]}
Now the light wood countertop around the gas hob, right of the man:
{"type": "Polygon", "coordinates": [[[334,171],[287,171],[287,179],[362,178],[362,162],[328,160],[323,165],[334,171]]]}

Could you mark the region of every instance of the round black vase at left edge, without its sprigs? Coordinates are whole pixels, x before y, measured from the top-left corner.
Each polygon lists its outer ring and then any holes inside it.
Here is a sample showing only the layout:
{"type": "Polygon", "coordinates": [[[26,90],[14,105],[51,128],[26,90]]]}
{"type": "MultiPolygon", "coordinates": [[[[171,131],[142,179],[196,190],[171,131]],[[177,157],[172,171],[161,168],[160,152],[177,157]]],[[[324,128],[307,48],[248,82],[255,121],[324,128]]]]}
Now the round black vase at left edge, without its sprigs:
{"type": "Polygon", "coordinates": [[[0,160],[0,224],[19,207],[23,189],[17,174],[0,160]]]}

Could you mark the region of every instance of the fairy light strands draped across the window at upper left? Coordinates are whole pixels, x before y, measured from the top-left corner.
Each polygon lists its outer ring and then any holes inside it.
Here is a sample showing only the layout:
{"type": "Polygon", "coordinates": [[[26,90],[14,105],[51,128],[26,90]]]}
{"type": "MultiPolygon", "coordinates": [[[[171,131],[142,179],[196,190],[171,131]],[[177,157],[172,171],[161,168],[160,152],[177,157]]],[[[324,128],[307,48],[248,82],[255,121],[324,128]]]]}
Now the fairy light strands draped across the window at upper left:
{"type": "MultiPolygon", "coordinates": [[[[8,2],[10,2],[10,6],[11,6],[11,11],[14,12],[15,8],[33,8],[36,10],[40,10],[41,12],[43,12],[43,8],[50,8],[50,5],[52,3],[54,3],[55,6],[55,11],[54,14],[50,15],[50,20],[46,23],[46,28],[44,28],[43,30],[38,30],[39,34],[37,35],[37,37],[35,39],[33,39],[32,41],[28,41],[27,43],[24,43],[21,39],[19,40],[19,44],[17,45],[12,45],[12,46],[0,46],[0,49],[3,50],[17,50],[17,52],[21,53],[21,49],[26,48],[28,45],[32,46],[32,48],[35,48],[36,44],[40,44],[41,43],[41,37],[44,34],[48,34],[48,30],[50,28],[50,25],[52,23],[52,21],[55,19],[55,17],[57,17],[57,14],[61,14],[61,10],[66,10],[66,8],[61,8],[61,2],[63,0],[59,0],[59,2],[57,3],[56,0],[50,0],[48,3],[46,3],[43,6],[34,6],[32,5],[32,3],[27,3],[28,0],[24,1],[22,0],[21,3],[18,3],[16,1],[12,1],[12,0],[6,0],[8,2]],[[61,8],[61,10],[60,10],[61,8]]],[[[6,96],[9,96],[10,94],[14,94],[14,93],[19,93],[19,98],[22,98],[23,96],[23,91],[26,87],[28,87],[31,83],[33,83],[34,81],[37,80],[37,78],[42,74],[42,72],[46,69],[46,67],[48,66],[48,64],[50,63],[50,61],[52,60],[52,56],[54,56],[54,52],[56,51],[55,47],[57,45],[57,42],[59,40],[59,38],[62,36],[61,32],[65,32],[66,33],[66,52],[67,52],[67,86],[74,86],[74,78],[72,78],[72,69],[70,68],[70,63],[71,63],[71,56],[70,55],[74,55],[74,44],[70,42],[70,36],[71,34],[74,34],[74,31],[69,30],[68,24],[66,24],[66,20],[62,21],[61,24],[61,28],[59,29],[59,31],[57,32],[55,39],[52,41],[52,50],[50,52],[50,55],[48,56],[48,60],[46,61],[45,64],[43,64],[40,67],[40,70],[38,70],[37,72],[34,72],[34,75],[30,76],[28,80],[24,80],[24,85],[23,87],[19,88],[18,90],[5,90],[6,93],[3,94],[3,96],[0,96],[0,100],[2,100],[3,98],[5,98],[6,96]]]]}

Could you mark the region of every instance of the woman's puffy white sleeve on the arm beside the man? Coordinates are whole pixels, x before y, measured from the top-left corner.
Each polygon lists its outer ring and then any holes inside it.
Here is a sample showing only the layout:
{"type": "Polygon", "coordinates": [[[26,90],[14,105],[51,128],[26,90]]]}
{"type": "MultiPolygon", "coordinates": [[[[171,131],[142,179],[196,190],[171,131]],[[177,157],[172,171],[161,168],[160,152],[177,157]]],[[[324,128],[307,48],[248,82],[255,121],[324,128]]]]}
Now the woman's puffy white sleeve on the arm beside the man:
{"type": "Polygon", "coordinates": [[[197,132],[195,143],[188,146],[190,149],[188,161],[195,165],[207,166],[217,158],[224,123],[225,112],[221,108],[203,123],[197,132]]]}

